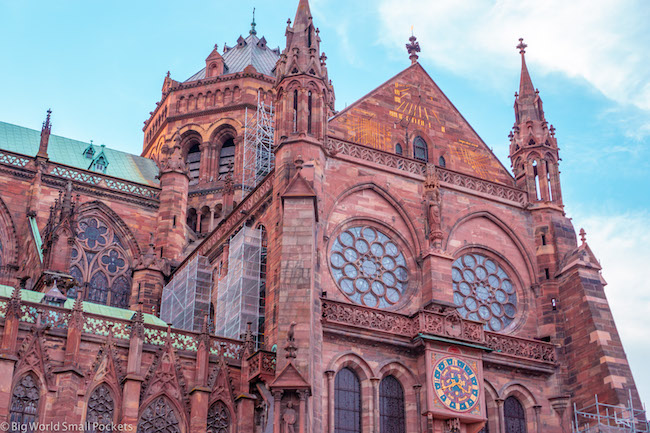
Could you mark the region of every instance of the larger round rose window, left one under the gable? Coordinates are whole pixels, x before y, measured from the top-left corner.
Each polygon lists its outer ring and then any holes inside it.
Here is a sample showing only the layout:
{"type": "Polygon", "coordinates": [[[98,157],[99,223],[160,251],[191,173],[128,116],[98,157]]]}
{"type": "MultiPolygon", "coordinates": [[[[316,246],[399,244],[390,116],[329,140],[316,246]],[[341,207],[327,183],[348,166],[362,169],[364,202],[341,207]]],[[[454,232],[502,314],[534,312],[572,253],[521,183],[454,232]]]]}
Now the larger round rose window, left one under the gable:
{"type": "Polygon", "coordinates": [[[406,259],[396,242],[373,227],[351,227],[338,235],[330,267],[339,288],[354,303],[386,308],[408,287],[406,259]]]}

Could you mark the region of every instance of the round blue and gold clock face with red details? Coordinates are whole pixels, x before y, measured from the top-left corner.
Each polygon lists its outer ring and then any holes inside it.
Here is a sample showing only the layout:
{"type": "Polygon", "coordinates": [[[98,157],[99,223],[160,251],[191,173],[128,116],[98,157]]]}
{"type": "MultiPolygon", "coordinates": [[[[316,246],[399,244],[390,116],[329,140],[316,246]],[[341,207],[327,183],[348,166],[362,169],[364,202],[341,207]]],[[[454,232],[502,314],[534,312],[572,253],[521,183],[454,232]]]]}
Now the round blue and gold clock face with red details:
{"type": "Polygon", "coordinates": [[[440,402],[456,412],[472,410],[479,401],[479,381],[469,363],[450,356],[433,370],[433,389],[440,402]]]}

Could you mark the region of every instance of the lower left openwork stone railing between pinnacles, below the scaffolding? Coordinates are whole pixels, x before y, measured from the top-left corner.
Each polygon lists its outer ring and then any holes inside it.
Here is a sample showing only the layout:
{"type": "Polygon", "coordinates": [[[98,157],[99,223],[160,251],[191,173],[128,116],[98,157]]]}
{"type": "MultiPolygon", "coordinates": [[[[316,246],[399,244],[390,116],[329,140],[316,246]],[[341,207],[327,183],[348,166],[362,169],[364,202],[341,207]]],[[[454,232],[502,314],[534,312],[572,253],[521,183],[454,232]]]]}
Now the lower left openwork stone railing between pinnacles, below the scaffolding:
{"type": "MultiPolygon", "coordinates": [[[[0,318],[5,317],[8,305],[8,299],[5,298],[0,301],[0,318]]],[[[50,329],[67,329],[72,311],[47,304],[21,301],[20,313],[21,322],[38,324],[50,329]]],[[[111,335],[115,340],[128,341],[131,338],[132,326],[132,320],[84,312],[81,329],[85,334],[100,337],[111,335]]],[[[169,339],[176,350],[196,352],[199,347],[199,337],[200,334],[197,332],[144,324],[144,343],[153,346],[163,346],[169,339]]],[[[243,343],[238,340],[211,335],[210,352],[215,355],[223,353],[225,357],[231,359],[240,359],[243,353],[243,343]]]]}

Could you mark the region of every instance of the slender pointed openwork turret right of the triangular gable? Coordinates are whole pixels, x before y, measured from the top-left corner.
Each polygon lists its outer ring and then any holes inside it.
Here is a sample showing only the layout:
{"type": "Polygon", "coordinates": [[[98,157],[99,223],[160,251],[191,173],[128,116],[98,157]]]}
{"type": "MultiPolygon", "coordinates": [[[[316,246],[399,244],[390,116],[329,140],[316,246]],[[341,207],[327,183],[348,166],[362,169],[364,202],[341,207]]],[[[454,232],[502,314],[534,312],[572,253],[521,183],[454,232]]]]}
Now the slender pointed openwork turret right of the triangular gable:
{"type": "Polygon", "coordinates": [[[528,191],[529,200],[562,206],[559,153],[555,128],[548,125],[542,99],[526,66],[526,47],[519,39],[521,78],[515,93],[515,125],[509,135],[510,160],[517,185],[528,191]]]}

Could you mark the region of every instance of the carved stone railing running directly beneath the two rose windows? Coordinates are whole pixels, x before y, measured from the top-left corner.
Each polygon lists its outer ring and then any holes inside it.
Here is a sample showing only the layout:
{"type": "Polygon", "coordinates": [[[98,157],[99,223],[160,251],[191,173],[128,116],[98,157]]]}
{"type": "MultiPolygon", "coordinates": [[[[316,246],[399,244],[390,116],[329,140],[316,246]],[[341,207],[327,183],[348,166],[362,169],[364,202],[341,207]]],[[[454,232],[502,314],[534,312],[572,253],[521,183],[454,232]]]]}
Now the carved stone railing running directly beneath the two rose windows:
{"type": "Polygon", "coordinates": [[[428,334],[480,344],[497,353],[521,359],[551,364],[557,361],[555,347],[550,343],[485,331],[482,323],[462,319],[454,310],[444,313],[419,311],[407,316],[327,299],[322,300],[322,305],[326,324],[407,338],[428,334]]]}

